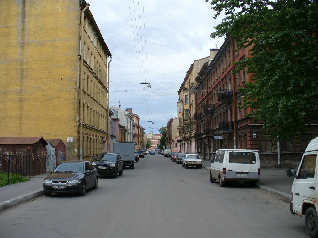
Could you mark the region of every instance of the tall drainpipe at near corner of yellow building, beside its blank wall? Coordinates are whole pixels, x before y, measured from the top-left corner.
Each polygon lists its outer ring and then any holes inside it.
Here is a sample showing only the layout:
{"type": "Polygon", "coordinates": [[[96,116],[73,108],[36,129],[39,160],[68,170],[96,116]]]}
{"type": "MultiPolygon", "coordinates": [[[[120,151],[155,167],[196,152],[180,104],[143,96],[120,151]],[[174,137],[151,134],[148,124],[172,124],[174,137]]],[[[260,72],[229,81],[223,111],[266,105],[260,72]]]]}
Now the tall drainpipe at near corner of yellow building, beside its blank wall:
{"type": "Polygon", "coordinates": [[[84,56],[84,12],[90,6],[86,3],[86,7],[81,11],[80,16],[80,69],[79,69],[79,159],[83,160],[83,56],[84,56]]]}

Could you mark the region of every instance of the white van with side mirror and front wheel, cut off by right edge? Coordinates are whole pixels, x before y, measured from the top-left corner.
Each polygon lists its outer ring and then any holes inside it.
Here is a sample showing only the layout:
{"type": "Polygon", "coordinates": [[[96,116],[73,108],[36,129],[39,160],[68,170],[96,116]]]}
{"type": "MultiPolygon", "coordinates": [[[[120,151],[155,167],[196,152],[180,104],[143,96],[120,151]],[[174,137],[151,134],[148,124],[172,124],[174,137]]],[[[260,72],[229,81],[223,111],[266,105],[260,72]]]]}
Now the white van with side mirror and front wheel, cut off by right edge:
{"type": "Polygon", "coordinates": [[[294,176],[290,211],[293,215],[305,215],[305,228],[310,237],[318,237],[318,137],[309,142],[302,156],[298,170],[290,168],[289,176],[294,176]]]}

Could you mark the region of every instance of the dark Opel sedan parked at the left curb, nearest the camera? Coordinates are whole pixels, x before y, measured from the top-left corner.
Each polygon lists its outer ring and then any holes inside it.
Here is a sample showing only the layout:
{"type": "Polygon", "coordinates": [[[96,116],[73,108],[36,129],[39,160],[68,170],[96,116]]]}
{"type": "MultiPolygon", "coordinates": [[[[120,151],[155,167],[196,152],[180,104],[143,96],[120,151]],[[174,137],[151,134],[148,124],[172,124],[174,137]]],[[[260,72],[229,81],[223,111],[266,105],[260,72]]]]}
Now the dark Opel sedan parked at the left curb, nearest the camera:
{"type": "Polygon", "coordinates": [[[97,170],[91,162],[83,160],[62,161],[43,180],[45,196],[52,193],[79,193],[85,196],[86,189],[97,187],[97,170]]]}

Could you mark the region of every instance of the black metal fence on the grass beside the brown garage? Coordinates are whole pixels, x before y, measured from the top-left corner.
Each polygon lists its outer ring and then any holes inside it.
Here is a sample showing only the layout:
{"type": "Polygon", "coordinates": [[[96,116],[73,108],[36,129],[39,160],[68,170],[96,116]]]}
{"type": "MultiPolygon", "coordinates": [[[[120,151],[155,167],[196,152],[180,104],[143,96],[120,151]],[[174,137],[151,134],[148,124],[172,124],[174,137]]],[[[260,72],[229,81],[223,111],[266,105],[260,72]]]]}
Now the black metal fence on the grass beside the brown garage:
{"type": "Polygon", "coordinates": [[[0,155],[0,182],[31,179],[30,155],[0,155]]]}

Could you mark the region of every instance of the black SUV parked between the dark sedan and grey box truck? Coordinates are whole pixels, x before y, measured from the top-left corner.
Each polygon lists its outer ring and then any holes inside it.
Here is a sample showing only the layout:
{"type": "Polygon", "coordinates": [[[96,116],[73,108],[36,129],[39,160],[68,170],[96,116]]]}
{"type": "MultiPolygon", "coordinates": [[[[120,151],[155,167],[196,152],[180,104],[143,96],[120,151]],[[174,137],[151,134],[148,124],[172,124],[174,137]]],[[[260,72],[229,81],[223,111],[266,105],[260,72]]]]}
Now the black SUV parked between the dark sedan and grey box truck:
{"type": "Polygon", "coordinates": [[[118,153],[101,153],[92,164],[99,175],[112,175],[114,178],[117,178],[118,173],[122,175],[124,170],[121,156],[118,153]]]}

